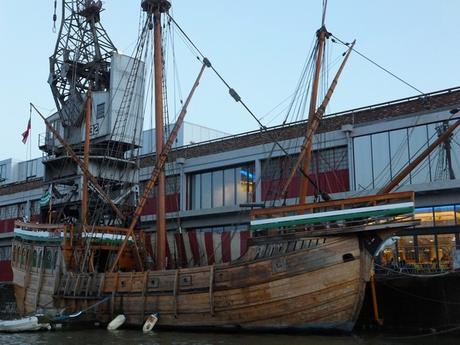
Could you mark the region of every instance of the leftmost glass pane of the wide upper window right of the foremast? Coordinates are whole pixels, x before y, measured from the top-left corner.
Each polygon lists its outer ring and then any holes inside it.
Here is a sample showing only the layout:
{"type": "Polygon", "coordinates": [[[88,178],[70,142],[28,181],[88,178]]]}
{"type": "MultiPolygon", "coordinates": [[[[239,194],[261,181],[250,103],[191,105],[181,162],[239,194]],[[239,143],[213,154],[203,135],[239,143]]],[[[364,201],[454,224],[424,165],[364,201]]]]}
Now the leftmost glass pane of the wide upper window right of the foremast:
{"type": "Polygon", "coordinates": [[[369,136],[358,137],[353,140],[355,189],[372,189],[372,162],[371,139],[369,136]]]}

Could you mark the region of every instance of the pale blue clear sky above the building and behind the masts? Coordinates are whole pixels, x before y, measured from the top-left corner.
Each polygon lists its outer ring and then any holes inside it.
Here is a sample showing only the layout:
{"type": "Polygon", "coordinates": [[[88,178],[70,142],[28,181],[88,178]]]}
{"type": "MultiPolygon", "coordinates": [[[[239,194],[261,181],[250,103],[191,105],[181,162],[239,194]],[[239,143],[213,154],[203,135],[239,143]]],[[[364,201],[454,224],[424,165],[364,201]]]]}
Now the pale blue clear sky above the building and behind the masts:
{"type": "MultiPolygon", "coordinates": [[[[0,0],[0,160],[41,155],[38,135],[45,126],[36,114],[30,146],[22,144],[21,133],[30,102],[45,115],[55,108],[47,84],[48,58],[57,39],[52,31],[53,2],[0,0]]],[[[283,120],[286,99],[321,25],[322,2],[174,0],[172,16],[262,122],[276,125],[283,120]]],[[[140,1],[103,3],[103,26],[115,46],[130,54],[138,33],[140,1]]],[[[460,85],[459,13],[458,0],[329,0],[326,27],[344,41],[356,39],[358,51],[417,89],[433,92],[460,85]]],[[[174,46],[185,98],[200,64],[180,39],[174,46]]],[[[330,61],[344,51],[333,45],[330,61]]],[[[416,95],[414,89],[353,54],[327,113],[416,95]]],[[[258,129],[209,70],[186,121],[232,134],[258,129]]],[[[150,123],[151,115],[146,114],[144,127],[150,123]]]]}

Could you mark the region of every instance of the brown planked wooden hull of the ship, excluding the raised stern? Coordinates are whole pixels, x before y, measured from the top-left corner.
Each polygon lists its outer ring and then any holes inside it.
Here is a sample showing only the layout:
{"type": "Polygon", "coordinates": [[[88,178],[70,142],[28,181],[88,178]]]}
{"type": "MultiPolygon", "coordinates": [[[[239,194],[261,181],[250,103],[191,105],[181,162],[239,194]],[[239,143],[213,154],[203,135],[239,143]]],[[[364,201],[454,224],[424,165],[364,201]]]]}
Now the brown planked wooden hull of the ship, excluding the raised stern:
{"type": "Polygon", "coordinates": [[[54,308],[88,310],[79,320],[103,323],[124,314],[131,326],[159,313],[165,328],[350,332],[369,272],[370,256],[357,235],[298,239],[250,247],[233,264],[69,273],[60,280],[54,308]]]}

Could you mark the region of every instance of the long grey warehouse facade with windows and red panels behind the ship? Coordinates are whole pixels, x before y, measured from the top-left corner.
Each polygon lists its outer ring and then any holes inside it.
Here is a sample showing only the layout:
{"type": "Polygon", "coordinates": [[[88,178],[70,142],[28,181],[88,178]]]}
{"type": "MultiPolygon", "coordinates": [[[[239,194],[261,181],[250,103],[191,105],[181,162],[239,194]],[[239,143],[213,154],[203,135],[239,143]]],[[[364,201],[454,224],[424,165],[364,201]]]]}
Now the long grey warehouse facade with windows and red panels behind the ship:
{"type": "MultiPolygon", "coordinates": [[[[375,193],[436,140],[448,123],[460,118],[453,111],[458,107],[460,88],[452,88],[327,116],[314,138],[309,177],[316,188],[309,187],[310,198],[322,192],[333,199],[375,193]]],[[[235,260],[250,236],[249,209],[242,204],[296,202],[300,175],[285,196],[280,191],[305,128],[305,122],[298,122],[200,143],[184,139],[184,146],[176,145],[166,167],[170,267],[235,260]]],[[[146,139],[148,133],[139,159],[141,195],[155,162],[155,153],[146,149],[152,142],[146,139]]],[[[14,221],[36,221],[40,208],[42,214],[46,211],[47,206],[39,203],[45,188],[41,160],[0,162],[0,281],[11,279],[14,221]]],[[[460,246],[460,132],[433,151],[396,190],[416,192],[421,225],[388,244],[378,265],[454,267],[460,246]]],[[[155,231],[155,205],[152,192],[141,217],[150,251],[155,248],[154,236],[149,235],[155,231]]]]}

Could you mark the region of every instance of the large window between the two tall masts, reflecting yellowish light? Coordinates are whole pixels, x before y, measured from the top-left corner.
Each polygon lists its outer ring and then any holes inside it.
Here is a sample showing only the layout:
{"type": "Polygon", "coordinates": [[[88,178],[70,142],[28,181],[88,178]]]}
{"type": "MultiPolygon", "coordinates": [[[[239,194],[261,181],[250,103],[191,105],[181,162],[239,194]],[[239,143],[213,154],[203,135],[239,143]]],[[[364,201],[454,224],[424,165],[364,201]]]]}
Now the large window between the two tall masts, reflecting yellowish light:
{"type": "Polygon", "coordinates": [[[191,174],[188,209],[234,206],[255,201],[254,163],[191,174]]]}

